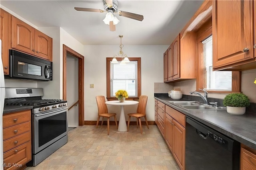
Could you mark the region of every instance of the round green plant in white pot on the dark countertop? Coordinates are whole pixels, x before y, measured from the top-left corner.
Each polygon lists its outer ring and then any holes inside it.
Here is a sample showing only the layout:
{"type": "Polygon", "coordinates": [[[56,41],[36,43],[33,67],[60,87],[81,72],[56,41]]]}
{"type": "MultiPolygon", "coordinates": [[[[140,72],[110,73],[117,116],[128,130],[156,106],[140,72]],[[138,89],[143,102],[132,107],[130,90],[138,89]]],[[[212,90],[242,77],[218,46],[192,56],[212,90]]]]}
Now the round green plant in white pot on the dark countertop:
{"type": "Polygon", "coordinates": [[[228,113],[232,115],[243,115],[245,108],[250,105],[250,100],[243,93],[231,93],[225,96],[223,104],[227,107],[228,113]]]}

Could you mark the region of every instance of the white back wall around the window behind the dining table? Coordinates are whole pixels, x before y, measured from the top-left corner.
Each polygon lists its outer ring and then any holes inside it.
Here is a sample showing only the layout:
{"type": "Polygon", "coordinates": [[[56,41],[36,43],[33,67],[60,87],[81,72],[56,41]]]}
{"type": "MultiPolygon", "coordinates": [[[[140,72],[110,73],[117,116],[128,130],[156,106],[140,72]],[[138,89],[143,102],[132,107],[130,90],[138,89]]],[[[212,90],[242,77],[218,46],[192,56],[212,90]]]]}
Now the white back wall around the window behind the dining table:
{"type": "MultiPolygon", "coordinates": [[[[141,94],[148,96],[147,118],[154,121],[154,82],[162,82],[163,53],[168,45],[124,45],[122,51],[128,57],[141,57],[141,94]]],[[[106,57],[113,57],[120,50],[118,45],[85,45],[84,64],[84,118],[88,121],[97,120],[98,107],[96,96],[106,97],[106,57]],[[94,84],[94,88],[90,88],[94,84]]],[[[109,112],[120,113],[117,106],[108,107],[109,112]]],[[[125,113],[136,111],[132,106],[124,108],[125,113]]],[[[128,119],[127,114],[126,119],[128,119]]],[[[119,114],[117,114],[119,119],[119,114]]],[[[113,119],[114,120],[114,119],[113,119]]],[[[132,120],[134,121],[134,120],[132,120]]]]}

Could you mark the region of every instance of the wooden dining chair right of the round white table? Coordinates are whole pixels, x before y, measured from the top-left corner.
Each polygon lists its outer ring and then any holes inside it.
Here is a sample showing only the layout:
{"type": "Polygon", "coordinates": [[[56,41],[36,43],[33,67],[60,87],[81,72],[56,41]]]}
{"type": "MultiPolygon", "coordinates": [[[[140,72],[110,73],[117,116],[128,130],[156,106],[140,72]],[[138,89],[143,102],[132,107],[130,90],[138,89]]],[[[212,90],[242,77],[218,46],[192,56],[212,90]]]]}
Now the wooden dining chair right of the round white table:
{"type": "Polygon", "coordinates": [[[148,96],[140,96],[139,104],[138,104],[138,107],[137,107],[137,112],[136,113],[129,113],[128,114],[129,119],[128,119],[127,131],[129,130],[129,124],[130,124],[131,116],[137,118],[137,128],[138,128],[138,121],[139,121],[139,123],[140,123],[140,133],[142,133],[141,120],[140,120],[141,117],[145,118],[146,125],[148,127],[148,120],[147,120],[147,117],[146,117],[147,101],[148,101],[148,96]]]}

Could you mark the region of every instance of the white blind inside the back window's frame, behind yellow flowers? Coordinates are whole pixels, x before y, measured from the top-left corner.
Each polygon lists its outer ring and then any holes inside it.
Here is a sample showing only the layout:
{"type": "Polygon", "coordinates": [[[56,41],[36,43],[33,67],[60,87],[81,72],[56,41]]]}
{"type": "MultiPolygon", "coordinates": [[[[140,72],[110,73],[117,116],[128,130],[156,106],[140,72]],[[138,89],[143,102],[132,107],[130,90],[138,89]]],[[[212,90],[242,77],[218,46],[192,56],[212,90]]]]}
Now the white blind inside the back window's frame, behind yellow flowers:
{"type": "Polygon", "coordinates": [[[130,61],[130,63],[110,64],[110,96],[114,97],[116,91],[126,90],[129,97],[138,97],[138,78],[137,78],[137,61],[130,61]]]}

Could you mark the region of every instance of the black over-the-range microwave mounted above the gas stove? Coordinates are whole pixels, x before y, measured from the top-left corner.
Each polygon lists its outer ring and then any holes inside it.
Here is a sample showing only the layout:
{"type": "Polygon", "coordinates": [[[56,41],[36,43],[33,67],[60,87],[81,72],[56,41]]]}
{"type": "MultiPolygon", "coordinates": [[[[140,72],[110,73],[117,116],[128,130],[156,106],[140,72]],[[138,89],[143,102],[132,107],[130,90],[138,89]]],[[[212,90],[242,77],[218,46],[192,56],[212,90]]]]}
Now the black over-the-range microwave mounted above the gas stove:
{"type": "Polygon", "coordinates": [[[6,78],[24,80],[48,81],[52,80],[52,62],[9,50],[9,75],[6,78]]]}

